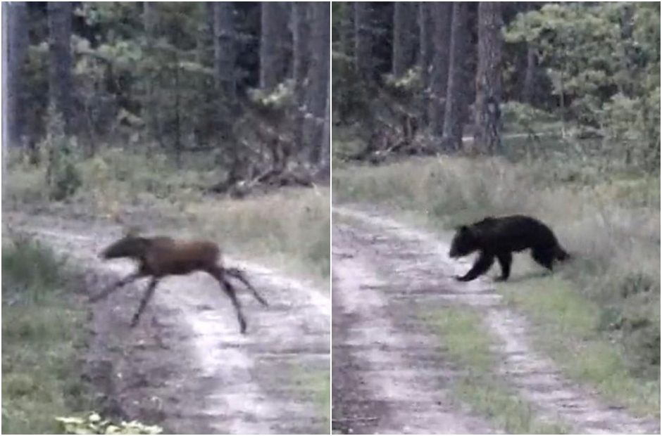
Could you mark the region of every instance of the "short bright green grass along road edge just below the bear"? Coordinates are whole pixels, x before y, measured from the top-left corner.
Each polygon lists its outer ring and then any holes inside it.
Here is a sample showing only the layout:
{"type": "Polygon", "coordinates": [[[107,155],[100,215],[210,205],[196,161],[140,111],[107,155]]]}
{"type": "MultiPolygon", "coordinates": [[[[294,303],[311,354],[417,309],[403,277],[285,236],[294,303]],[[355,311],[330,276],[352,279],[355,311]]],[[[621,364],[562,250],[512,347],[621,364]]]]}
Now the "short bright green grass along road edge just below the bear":
{"type": "Polygon", "coordinates": [[[659,379],[642,380],[628,368],[625,350],[599,333],[601,309],[559,276],[499,283],[499,293],[532,321],[535,345],[575,380],[640,416],[658,417],[659,379]]]}

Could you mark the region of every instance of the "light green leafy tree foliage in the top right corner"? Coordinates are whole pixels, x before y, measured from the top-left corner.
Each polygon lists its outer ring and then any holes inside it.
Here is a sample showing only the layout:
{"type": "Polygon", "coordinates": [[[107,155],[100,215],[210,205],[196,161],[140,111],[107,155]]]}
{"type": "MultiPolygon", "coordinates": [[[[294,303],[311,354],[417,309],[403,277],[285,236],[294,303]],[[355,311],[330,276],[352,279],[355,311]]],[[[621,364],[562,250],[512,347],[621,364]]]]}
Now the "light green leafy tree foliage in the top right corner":
{"type": "Polygon", "coordinates": [[[628,160],[659,167],[659,4],[546,4],[504,34],[535,46],[574,120],[637,148],[628,160]]]}

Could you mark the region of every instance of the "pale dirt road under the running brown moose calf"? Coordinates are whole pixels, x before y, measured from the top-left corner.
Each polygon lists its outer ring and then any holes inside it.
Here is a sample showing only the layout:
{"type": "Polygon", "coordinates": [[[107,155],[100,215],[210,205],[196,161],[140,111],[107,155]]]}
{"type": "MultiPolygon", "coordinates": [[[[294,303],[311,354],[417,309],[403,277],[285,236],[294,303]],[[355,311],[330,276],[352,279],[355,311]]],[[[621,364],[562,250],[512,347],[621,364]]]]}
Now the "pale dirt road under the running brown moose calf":
{"type": "MultiPolygon", "coordinates": [[[[117,227],[19,215],[11,222],[88,271],[89,293],[133,269],[130,262],[96,258],[120,236],[117,227]]],[[[319,398],[330,365],[328,293],[226,260],[242,267],[270,304],[261,307],[239,290],[246,335],[218,284],[201,273],[164,279],[139,326],[130,329],[142,282],[94,305],[87,376],[111,410],[169,432],[328,434],[319,398]]]]}

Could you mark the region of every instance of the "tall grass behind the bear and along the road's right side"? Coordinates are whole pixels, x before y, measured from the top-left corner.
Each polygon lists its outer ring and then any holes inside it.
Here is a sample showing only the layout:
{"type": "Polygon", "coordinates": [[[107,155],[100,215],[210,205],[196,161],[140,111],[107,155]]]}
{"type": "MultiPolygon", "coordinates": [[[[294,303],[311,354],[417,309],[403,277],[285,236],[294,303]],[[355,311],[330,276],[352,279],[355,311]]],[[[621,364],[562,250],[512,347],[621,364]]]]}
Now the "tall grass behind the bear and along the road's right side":
{"type": "Polygon", "coordinates": [[[556,347],[538,346],[568,376],[633,413],[659,416],[660,178],[599,163],[442,156],[346,167],[334,170],[334,202],[375,203],[443,238],[489,214],[542,219],[573,260],[551,279],[516,257],[499,290],[542,326],[539,336],[556,347]],[[527,268],[536,274],[518,281],[527,268]]]}

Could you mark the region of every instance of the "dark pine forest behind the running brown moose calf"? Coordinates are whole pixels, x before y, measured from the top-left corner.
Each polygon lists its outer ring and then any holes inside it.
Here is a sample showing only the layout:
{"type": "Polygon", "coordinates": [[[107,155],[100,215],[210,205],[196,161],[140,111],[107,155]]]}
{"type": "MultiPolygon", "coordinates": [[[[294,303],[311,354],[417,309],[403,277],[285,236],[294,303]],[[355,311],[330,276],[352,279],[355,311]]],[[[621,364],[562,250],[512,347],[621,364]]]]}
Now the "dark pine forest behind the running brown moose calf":
{"type": "Polygon", "coordinates": [[[87,159],[108,146],[177,165],[199,153],[219,169],[210,188],[237,195],[327,177],[328,4],[3,8],[6,144],[53,177],[67,178],[59,155],[75,148],[87,159]]]}

